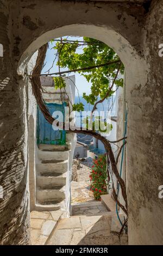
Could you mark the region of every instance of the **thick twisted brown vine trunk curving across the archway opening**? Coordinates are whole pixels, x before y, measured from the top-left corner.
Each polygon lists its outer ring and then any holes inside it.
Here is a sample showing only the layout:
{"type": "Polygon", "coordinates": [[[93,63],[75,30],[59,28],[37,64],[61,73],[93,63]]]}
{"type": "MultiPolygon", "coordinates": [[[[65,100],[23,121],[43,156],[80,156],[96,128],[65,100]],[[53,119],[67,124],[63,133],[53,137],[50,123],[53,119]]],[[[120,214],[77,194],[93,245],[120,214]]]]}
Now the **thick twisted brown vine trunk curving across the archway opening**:
{"type": "MultiPolygon", "coordinates": [[[[42,97],[42,93],[41,93],[42,88],[41,88],[40,76],[38,76],[38,75],[36,76],[36,74],[41,74],[41,70],[42,70],[42,67],[43,67],[43,62],[44,62],[45,56],[46,56],[47,47],[48,47],[48,44],[45,44],[45,45],[43,45],[42,47],[39,48],[35,68],[33,70],[32,78],[30,78],[30,79],[31,79],[31,83],[32,83],[33,94],[36,98],[36,102],[39,105],[42,114],[44,115],[44,117],[48,121],[48,123],[53,124],[53,121],[55,119],[49,113],[48,108],[45,105],[45,101],[43,100],[43,97],[42,97]]],[[[58,127],[63,127],[63,129],[65,129],[65,123],[60,123],[58,121],[57,126],[58,127]]],[[[124,198],[124,202],[125,202],[126,205],[123,206],[118,201],[114,185],[113,185],[113,193],[112,194],[114,196],[114,199],[118,203],[118,205],[122,208],[124,213],[128,216],[126,185],[125,185],[123,179],[121,178],[121,176],[118,172],[117,163],[116,163],[115,156],[114,156],[114,153],[112,151],[110,142],[105,137],[103,137],[99,133],[97,133],[96,131],[92,131],[92,130],[84,130],[83,131],[82,129],[80,129],[80,127],[75,127],[75,126],[70,127],[68,132],[84,133],[86,135],[91,135],[91,136],[99,139],[101,142],[103,142],[105,150],[106,150],[106,155],[108,156],[108,161],[110,161],[110,163],[111,163],[112,172],[115,174],[118,182],[120,183],[120,187],[121,187],[121,190],[122,190],[122,196],[124,198]]],[[[120,139],[119,141],[121,141],[121,140],[122,139],[120,139]]],[[[110,180],[109,172],[108,172],[108,179],[110,180]]]]}

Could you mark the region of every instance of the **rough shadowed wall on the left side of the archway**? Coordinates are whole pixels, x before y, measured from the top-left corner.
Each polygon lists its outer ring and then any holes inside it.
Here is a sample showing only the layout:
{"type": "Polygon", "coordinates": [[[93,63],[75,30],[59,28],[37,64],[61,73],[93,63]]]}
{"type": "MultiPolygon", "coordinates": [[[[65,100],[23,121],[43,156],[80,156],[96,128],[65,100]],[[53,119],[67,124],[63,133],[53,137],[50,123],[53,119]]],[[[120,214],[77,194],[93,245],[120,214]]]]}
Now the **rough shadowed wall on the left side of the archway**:
{"type": "Polygon", "coordinates": [[[12,41],[7,3],[0,1],[0,244],[16,245],[29,243],[28,138],[26,87],[15,69],[18,38],[12,41]]]}

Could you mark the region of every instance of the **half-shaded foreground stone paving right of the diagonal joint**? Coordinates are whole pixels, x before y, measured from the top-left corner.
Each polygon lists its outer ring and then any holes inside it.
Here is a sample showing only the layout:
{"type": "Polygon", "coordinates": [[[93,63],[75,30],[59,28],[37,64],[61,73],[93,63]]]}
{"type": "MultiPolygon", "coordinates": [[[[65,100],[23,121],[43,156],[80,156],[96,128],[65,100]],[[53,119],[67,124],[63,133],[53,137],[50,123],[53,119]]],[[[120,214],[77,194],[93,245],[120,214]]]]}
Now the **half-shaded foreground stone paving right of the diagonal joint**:
{"type": "Polygon", "coordinates": [[[111,233],[111,216],[74,216],[61,219],[46,245],[127,245],[111,233]]]}

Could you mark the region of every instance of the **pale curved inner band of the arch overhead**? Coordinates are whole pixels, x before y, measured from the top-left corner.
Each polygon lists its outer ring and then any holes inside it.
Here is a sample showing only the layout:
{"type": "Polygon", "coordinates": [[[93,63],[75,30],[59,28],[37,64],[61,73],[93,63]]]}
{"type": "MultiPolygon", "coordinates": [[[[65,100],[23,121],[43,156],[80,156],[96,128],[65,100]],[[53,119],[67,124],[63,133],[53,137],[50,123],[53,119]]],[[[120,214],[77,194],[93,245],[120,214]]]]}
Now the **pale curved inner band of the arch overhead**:
{"type": "Polygon", "coordinates": [[[124,39],[116,32],[103,27],[97,27],[92,25],[70,25],[46,32],[45,34],[37,38],[32,44],[30,44],[27,50],[22,54],[19,63],[18,73],[21,73],[24,70],[24,66],[26,66],[26,64],[28,63],[28,59],[30,58],[30,56],[32,56],[32,53],[37,50],[36,47],[41,47],[43,44],[45,44],[45,42],[50,41],[52,38],[58,38],[59,36],[63,35],[84,35],[93,38],[93,35],[95,35],[95,33],[96,36],[94,36],[94,38],[104,41],[106,44],[114,48],[116,53],[120,54],[119,56],[121,60],[123,60],[123,63],[126,67],[126,73],[128,75],[127,95],[129,95],[131,90],[131,86],[128,87],[129,81],[130,84],[131,82],[132,84],[133,82],[136,84],[139,81],[140,76],[143,78],[142,83],[146,80],[146,77],[144,75],[145,73],[143,72],[142,74],[142,71],[145,68],[145,62],[143,61],[143,59],[137,56],[135,49],[130,46],[129,42],[126,39],[124,39]],[[137,81],[135,81],[133,77],[135,70],[137,71],[137,81]]]}

